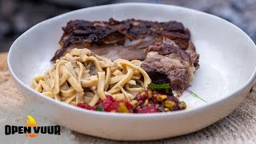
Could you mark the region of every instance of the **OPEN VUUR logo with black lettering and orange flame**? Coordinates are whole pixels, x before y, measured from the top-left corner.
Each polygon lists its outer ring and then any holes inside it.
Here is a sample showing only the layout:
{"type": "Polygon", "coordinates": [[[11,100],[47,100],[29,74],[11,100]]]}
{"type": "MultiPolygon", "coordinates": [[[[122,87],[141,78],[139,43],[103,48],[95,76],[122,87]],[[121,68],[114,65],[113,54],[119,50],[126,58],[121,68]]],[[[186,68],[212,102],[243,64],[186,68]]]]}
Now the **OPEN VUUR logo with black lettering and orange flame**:
{"type": "Polygon", "coordinates": [[[25,134],[26,137],[35,138],[38,134],[61,134],[61,126],[38,126],[34,118],[30,115],[26,115],[29,120],[26,120],[25,126],[5,126],[5,134],[25,134]]]}

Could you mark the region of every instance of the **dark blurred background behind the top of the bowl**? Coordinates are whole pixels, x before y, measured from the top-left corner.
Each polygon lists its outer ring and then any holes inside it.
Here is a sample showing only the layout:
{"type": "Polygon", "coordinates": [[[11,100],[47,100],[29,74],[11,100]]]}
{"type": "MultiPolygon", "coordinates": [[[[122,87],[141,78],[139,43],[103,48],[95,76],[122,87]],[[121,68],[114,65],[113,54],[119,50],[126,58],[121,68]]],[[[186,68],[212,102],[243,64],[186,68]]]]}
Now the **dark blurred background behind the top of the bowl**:
{"type": "Polygon", "coordinates": [[[0,52],[20,34],[48,18],[89,6],[150,2],[184,6],[218,15],[240,27],[256,42],[256,0],[0,0],[0,52]]]}

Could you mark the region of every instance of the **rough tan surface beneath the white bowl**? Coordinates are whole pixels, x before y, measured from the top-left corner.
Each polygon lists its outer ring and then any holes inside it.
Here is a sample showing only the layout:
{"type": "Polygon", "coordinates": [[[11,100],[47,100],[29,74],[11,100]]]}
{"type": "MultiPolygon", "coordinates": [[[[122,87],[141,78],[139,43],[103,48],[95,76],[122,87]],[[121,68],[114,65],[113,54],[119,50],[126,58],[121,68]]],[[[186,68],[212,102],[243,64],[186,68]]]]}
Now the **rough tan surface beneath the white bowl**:
{"type": "MultiPolygon", "coordinates": [[[[34,143],[36,140],[29,138],[17,139],[14,136],[4,136],[3,126],[10,123],[26,122],[27,111],[24,108],[26,104],[22,94],[16,89],[6,70],[6,54],[0,54],[0,140],[3,142],[34,143]],[[24,110],[26,111],[24,113],[24,110]],[[24,142],[23,142],[24,141],[24,142]]],[[[45,118],[35,117],[37,122],[44,125],[50,124],[45,118]]],[[[188,120],[189,121],[189,120],[188,120]]],[[[49,140],[59,143],[118,143],[103,138],[96,138],[85,134],[78,134],[72,130],[62,127],[62,133],[58,137],[48,137],[46,139],[38,138],[37,142],[49,140]]],[[[145,143],[256,143],[256,85],[250,90],[250,94],[233,113],[226,118],[199,130],[193,134],[168,138],[159,141],[145,143]]],[[[126,143],[126,142],[124,142],[126,143]]],[[[128,142],[134,143],[134,142],[128,142]]]]}

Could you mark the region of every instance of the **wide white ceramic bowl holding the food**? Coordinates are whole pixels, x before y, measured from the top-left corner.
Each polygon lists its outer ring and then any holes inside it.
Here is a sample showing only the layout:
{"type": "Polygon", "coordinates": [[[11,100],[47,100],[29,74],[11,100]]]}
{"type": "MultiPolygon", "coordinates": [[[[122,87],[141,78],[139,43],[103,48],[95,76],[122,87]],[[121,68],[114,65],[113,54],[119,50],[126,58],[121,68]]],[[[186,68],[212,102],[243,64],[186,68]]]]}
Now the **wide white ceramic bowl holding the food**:
{"type": "Polygon", "coordinates": [[[200,130],[230,114],[248,94],[255,79],[256,47],[237,26],[222,18],[178,6],[126,3],[95,6],[50,18],[27,30],[11,46],[10,72],[34,110],[83,134],[116,140],[170,138],[200,130]],[[183,94],[189,110],[158,114],[114,114],[83,110],[55,102],[30,88],[59,48],[62,26],[74,19],[139,18],[177,20],[190,29],[200,57],[190,90],[207,102],[183,94]]]}

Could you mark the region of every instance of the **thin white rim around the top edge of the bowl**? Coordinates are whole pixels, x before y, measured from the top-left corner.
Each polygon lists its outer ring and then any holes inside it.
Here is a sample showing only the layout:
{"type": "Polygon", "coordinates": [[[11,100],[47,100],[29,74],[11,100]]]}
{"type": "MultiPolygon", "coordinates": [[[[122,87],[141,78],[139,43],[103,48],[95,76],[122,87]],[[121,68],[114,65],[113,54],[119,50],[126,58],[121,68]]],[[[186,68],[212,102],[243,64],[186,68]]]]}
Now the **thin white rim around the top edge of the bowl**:
{"type": "Polygon", "coordinates": [[[38,93],[36,90],[33,90],[32,88],[30,88],[30,86],[27,86],[24,82],[19,80],[17,78],[17,76],[14,74],[14,71],[12,70],[12,68],[10,66],[10,61],[12,61],[10,59],[10,55],[12,54],[12,49],[13,49],[14,45],[16,44],[16,42],[18,41],[18,39],[22,38],[24,35],[29,33],[30,30],[34,29],[35,27],[41,26],[41,25],[45,24],[46,22],[50,22],[51,20],[62,18],[66,14],[73,14],[73,13],[76,13],[76,12],[81,11],[81,10],[101,9],[101,8],[104,8],[104,7],[115,7],[115,6],[158,6],[158,7],[174,8],[174,9],[177,9],[177,10],[190,11],[190,12],[198,13],[198,14],[204,14],[207,17],[214,18],[217,21],[226,22],[227,24],[232,26],[234,29],[238,30],[239,33],[243,34],[249,40],[251,45],[254,46],[254,50],[256,51],[256,46],[255,46],[253,40],[243,30],[241,30],[238,26],[235,26],[233,23],[228,22],[228,21],[226,21],[223,18],[219,18],[218,16],[215,16],[213,14],[207,14],[207,13],[204,13],[202,11],[193,10],[193,9],[189,9],[189,8],[182,7],[182,6],[173,6],[173,5],[156,4],[156,3],[126,2],[126,3],[110,4],[110,5],[103,5],[103,6],[92,6],[92,7],[88,7],[88,8],[82,8],[82,9],[78,9],[78,10],[73,10],[73,11],[67,12],[65,14],[60,14],[58,16],[55,16],[54,18],[49,18],[49,19],[47,19],[47,20],[45,20],[43,22],[39,22],[35,26],[32,26],[29,30],[26,30],[25,33],[20,35],[14,41],[14,43],[10,46],[10,50],[9,50],[9,54],[8,54],[8,59],[7,59],[8,67],[9,67],[9,70],[10,70],[10,74],[12,74],[13,78],[22,87],[24,87],[26,90],[29,90],[30,92],[34,93],[35,95],[39,95],[42,98],[46,98],[49,102],[54,102],[54,103],[56,103],[59,106],[65,106],[65,107],[68,107],[68,108],[70,108],[72,110],[77,110],[77,111],[79,111],[81,113],[85,113],[85,114],[89,113],[89,114],[96,114],[96,115],[106,115],[106,116],[114,116],[114,117],[134,117],[134,118],[142,118],[142,117],[144,117],[144,118],[159,118],[159,117],[166,117],[166,116],[170,116],[170,115],[174,116],[174,115],[191,114],[191,113],[194,113],[194,112],[198,112],[200,110],[204,110],[204,108],[206,108],[208,106],[214,106],[214,105],[216,105],[217,103],[219,103],[221,101],[225,101],[225,100],[230,99],[230,97],[232,97],[234,94],[242,92],[242,90],[246,89],[246,87],[250,86],[250,84],[252,84],[254,82],[254,80],[256,78],[256,66],[255,66],[254,72],[252,73],[250,78],[242,86],[239,86],[239,88],[237,90],[234,90],[234,92],[232,92],[231,94],[226,94],[225,96],[223,96],[222,98],[219,98],[218,100],[216,100],[214,102],[210,102],[210,103],[207,103],[207,104],[205,104],[203,106],[199,106],[199,107],[196,107],[196,108],[193,108],[193,109],[178,110],[178,111],[173,111],[173,112],[170,112],[170,113],[150,113],[150,114],[134,114],[134,113],[131,113],[131,114],[124,114],[124,113],[109,113],[109,112],[100,112],[100,111],[95,111],[95,110],[86,110],[86,109],[82,109],[82,108],[77,107],[77,106],[68,105],[68,104],[66,104],[64,102],[55,101],[53,98],[48,98],[45,95],[38,93]]]}

